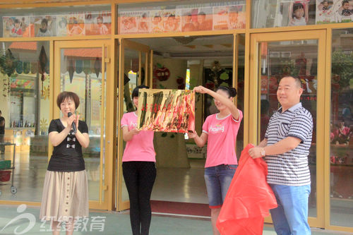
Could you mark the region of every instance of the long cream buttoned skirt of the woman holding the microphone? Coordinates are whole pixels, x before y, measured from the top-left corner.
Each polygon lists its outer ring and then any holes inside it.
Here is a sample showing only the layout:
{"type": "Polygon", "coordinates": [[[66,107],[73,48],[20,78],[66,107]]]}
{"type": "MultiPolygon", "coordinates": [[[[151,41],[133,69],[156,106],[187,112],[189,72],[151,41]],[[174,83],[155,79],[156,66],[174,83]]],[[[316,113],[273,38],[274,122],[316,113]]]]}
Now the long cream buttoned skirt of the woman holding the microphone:
{"type": "Polygon", "coordinates": [[[88,217],[86,171],[47,171],[40,219],[68,222],[79,217],[88,217]]]}

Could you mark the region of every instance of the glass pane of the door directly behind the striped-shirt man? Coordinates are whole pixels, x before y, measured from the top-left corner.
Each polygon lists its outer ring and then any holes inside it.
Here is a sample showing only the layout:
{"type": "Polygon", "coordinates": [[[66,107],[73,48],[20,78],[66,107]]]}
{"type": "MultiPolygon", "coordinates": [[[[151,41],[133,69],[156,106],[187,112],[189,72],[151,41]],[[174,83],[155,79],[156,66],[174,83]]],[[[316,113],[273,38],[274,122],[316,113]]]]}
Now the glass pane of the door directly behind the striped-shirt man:
{"type": "Polygon", "coordinates": [[[316,98],[318,40],[262,42],[261,53],[261,115],[259,137],[263,140],[270,116],[280,108],[277,87],[280,79],[294,76],[301,79],[301,104],[313,116],[313,140],[308,157],[311,172],[309,217],[316,217],[316,98]]]}

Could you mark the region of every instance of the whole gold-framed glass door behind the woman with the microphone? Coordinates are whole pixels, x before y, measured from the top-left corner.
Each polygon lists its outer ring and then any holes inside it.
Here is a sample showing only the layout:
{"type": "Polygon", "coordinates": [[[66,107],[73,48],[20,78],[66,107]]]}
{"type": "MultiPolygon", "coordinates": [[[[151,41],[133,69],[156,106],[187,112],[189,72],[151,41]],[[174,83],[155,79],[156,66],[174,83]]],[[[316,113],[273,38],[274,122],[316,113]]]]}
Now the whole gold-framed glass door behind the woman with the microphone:
{"type": "MultiPolygon", "coordinates": [[[[76,113],[88,125],[89,147],[83,149],[85,169],[88,175],[90,208],[108,209],[108,198],[112,191],[108,176],[112,171],[109,159],[110,139],[107,133],[109,117],[106,111],[111,103],[107,101],[107,88],[112,79],[109,76],[110,41],[91,40],[55,42],[54,44],[54,97],[53,117],[61,115],[56,107],[59,92],[76,92],[80,106],[76,113]],[[106,176],[106,177],[104,177],[106,176]]],[[[49,151],[51,152],[51,151],[49,151]]]]}

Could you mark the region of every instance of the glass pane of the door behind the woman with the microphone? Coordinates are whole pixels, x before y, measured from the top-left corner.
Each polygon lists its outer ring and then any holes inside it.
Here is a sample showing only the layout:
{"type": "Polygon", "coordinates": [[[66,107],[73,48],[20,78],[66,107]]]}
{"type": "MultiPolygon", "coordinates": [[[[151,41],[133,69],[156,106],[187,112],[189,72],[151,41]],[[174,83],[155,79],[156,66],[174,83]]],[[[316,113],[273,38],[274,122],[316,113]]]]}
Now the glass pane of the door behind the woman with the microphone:
{"type": "Polygon", "coordinates": [[[102,94],[102,49],[61,49],[60,76],[61,91],[73,91],[80,97],[76,114],[87,123],[90,135],[90,145],[83,149],[89,198],[99,200],[100,152],[103,147],[100,140],[104,138],[102,95],[105,96],[102,94]]]}

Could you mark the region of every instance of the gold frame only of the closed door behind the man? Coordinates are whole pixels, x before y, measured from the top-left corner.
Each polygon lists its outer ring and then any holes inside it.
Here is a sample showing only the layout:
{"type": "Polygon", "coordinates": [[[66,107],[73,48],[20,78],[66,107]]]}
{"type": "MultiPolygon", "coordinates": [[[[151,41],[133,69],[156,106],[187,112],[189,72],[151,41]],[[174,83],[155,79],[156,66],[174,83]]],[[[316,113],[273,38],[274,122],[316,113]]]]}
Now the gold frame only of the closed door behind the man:
{"type": "MultiPolygon", "coordinates": [[[[259,90],[259,61],[258,54],[259,44],[261,42],[278,42],[291,40],[318,40],[318,88],[317,88],[317,120],[316,126],[324,126],[325,123],[325,63],[326,63],[326,30],[310,30],[297,31],[288,34],[286,32],[268,32],[251,34],[250,38],[250,75],[245,80],[246,92],[249,92],[246,97],[249,97],[249,106],[246,106],[246,114],[249,119],[246,121],[249,126],[248,143],[259,143],[258,128],[260,106],[258,104],[260,98],[259,90]]],[[[246,119],[245,119],[246,120],[246,119]]],[[[309,217],[311,227],[325,227],[325,193],[324,193],[324,128],[316,128],[316,210],[317,217],[309,217]]],[[[245,140],[244,140],[245,141],[245,140]]],[[[266,218],[265,222],[271,222],[270,218],[266,218]]]]}

